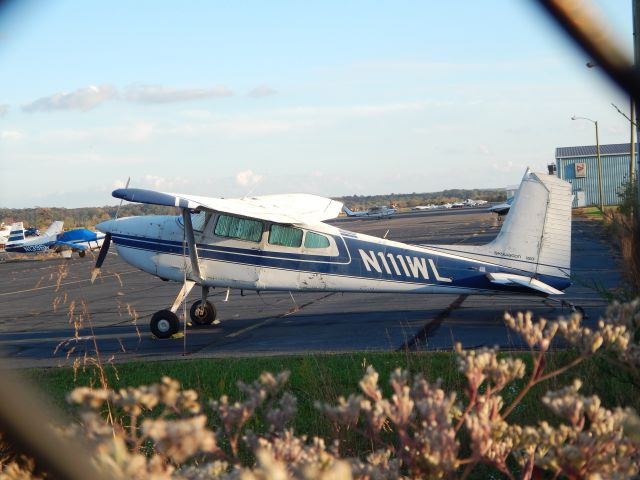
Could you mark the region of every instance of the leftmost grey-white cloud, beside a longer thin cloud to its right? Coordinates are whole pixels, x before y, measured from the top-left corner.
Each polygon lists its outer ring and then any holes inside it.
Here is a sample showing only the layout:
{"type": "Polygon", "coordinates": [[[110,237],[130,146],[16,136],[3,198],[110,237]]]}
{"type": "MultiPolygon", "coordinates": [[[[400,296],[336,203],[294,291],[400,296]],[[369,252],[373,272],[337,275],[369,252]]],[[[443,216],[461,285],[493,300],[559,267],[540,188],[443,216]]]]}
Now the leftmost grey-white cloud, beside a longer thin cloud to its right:
{"type": "Polygon", "coordinates": [[[80,110],[87,112],[117,96],[117,90],[111,85],[90,85],[71,93],[62,92],[39,98],[27,105],[23,105],[22,111],[27,113],[50,112],[53,110],[80,110]]]}

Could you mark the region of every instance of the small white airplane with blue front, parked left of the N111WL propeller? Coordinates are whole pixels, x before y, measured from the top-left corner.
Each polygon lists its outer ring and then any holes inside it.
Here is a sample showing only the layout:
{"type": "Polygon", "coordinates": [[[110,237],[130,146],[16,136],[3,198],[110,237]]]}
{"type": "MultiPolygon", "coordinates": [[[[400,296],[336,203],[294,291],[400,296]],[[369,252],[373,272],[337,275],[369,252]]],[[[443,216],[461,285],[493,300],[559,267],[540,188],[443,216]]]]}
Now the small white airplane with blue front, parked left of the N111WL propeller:
{"type": "Polygon", "coordinates": [[[88,250],[96,250],[102,246],[105,235],[92,232],[85,228],[76,228],[67,232],[62,231],[63,222],[53,222],[47,231],[39,237],[26,238],[22,222],[12,226],[9,241],[5,245],[6,252],[38,253],[54,251],[64,256],[71,256],[78,252],[84,257],[88,250]]]}

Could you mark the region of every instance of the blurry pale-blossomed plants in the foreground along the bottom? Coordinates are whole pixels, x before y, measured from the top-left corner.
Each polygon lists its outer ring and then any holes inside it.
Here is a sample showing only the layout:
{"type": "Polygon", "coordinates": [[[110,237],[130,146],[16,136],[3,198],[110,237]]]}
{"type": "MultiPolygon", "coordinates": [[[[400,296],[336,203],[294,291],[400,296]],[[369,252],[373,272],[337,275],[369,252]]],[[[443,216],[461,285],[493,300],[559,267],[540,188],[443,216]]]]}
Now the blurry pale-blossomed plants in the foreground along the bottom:
{"type": "MultiPolygon", "coordinates": [[[[557,421],[518,425],[513,416],[534,387],[596,354],[637,372],[632,332],[640,303],[613,305],[596,330],[582,326],[578,315],[534,322],[530,314],[507,314],[505,321],[529,346],[531,367],[520,358],[499,357],[497,349],[457,345],[457,367],[465,378],[460,397],[440,381],[400,369],[391,374],[391,393],[385,395],[368,366],[360,393],[335,405],[316,403],[337,433],[348,431],[369,446],[358,458],[346,455],[338,440],[296,434],[296,398],[285,391],[288,372],[240,382],[242,398],[208,402],[209,415],[195,391],[166,377],[117,392],[77,388],[68,396],[82,420],[74,430],[90,442],[94,464],[113,478],[467,478],[487,469],[525,479],[637,475],[638,416],[582,395],[580,380],[542,396],[557,421]],[[546,355],[556,337],[577,353],[548,371],[546,355]],[[110,423],[107,412],[120,412],[118,421],[110,423]]],[[[29,478],[32,468],[7,460],[2,474],[29,478]]]]}

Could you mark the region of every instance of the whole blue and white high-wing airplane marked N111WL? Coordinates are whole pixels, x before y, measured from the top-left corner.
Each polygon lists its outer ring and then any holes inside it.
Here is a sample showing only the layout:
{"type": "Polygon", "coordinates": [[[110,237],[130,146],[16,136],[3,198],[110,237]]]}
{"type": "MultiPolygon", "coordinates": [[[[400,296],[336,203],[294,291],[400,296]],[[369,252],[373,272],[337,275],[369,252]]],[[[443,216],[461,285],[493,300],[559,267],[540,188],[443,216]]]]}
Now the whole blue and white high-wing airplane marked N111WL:
{"type": "Polygon", "coordinates": [[[131,265],[183,283],[151,318],[156,337],[179,330],[176,311],[195,285],[191,319],[216,318],[212,287],[257,291],[559,295],[570,284],[571,187],[527,170],[498,236],[486,245],[409,245],[324,223],[342,204],[307,194],[218,199],[137,188],[116,198],[180,209],[179,216],[108,220],[92,280],[113,241],[131,265]]]}

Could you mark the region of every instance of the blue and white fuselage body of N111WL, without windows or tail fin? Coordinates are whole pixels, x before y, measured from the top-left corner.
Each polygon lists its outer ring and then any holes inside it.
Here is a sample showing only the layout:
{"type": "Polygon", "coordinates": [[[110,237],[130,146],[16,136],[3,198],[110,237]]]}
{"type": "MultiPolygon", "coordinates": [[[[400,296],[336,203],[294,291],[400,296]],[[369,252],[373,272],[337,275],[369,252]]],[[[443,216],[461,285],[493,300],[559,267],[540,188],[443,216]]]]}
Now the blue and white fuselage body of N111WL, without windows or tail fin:
{"type": "MultiPolygon", "coordinates": [[[[439,251],[438,246],[394,242],[325,223],[296,229],[303,231],[305,239],[308,232],[325,237],[328,246],[289,247],[270,243],[269,222],[262,222],[257,241],[247,241],[216,235],[215,221],[213,215],[201,231],[195,232],[200,278],[194,276],[190,266],[181,217],[131,217],[103,225],[125,261],[176,282],[184,280],[186,271],[188,279],[203,286],[251,290],[458,294],[527,291],[496,285],[487,277],[498,272],[522,273],[499,265],[499,252],[494,258],[470,259],[464,254],[439,251]]],[[[558,290],[570,284],[568,278],[538,278],[558,290]]]]}

